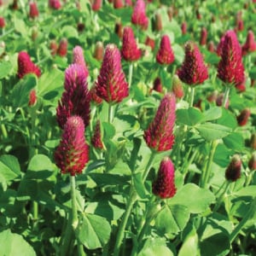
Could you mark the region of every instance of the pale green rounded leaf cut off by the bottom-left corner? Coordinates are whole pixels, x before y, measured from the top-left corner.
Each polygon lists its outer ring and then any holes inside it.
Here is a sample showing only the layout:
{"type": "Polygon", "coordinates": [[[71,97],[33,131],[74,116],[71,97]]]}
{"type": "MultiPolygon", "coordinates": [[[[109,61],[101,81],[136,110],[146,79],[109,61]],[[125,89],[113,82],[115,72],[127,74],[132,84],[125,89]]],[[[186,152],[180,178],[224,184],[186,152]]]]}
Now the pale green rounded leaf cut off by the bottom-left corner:
{"type": "Polygon", "coordinates": [[[11,233],[10,230],[0,233],[0,244],[1,255],[36,256],[33,247],[22,236],[11,233]]]}

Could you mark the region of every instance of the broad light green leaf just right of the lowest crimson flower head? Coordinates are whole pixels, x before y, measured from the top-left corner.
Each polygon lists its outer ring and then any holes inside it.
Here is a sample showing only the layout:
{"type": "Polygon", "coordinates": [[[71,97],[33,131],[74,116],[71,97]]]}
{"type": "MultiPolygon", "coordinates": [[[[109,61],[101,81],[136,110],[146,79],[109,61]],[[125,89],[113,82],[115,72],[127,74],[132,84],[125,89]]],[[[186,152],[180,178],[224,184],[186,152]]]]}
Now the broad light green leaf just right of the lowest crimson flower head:
{"type": "Polygon", "coordinates": [[[214,200],[214,195],[208,189],[201,189],[194,183],[187,183],[177,191],[169,203],[188,207],[191,213],[201,213],[205,212],[214,200]]]}

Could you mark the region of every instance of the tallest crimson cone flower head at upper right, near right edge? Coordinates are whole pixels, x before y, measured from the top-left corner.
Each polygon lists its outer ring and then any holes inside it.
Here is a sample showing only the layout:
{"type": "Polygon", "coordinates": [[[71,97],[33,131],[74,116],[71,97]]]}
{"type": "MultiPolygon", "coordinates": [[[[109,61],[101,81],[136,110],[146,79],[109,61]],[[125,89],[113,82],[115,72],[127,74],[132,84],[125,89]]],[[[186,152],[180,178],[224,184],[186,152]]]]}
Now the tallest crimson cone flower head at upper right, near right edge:
{"type": "Polygon", "coordinates": [[[241,84],[244,81],[244,67],[236,33],[231,30],[226,32],[221,46],[218,78],[226,84],[241,84]]]}

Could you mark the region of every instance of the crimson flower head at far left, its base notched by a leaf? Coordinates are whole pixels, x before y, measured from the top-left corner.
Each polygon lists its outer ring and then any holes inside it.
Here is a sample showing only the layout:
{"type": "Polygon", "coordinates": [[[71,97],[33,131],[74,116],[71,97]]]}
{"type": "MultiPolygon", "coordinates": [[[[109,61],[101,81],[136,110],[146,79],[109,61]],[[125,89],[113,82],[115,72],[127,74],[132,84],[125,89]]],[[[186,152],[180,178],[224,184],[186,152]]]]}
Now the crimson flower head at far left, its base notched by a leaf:
{"type": "Polygon", "coordinates": [[[27,73],[34,73],[40,77],[41,71],[30,59],[30,55],[26,51],[20,51],[18,55],[18,77],[22,79],[27,73]]]}

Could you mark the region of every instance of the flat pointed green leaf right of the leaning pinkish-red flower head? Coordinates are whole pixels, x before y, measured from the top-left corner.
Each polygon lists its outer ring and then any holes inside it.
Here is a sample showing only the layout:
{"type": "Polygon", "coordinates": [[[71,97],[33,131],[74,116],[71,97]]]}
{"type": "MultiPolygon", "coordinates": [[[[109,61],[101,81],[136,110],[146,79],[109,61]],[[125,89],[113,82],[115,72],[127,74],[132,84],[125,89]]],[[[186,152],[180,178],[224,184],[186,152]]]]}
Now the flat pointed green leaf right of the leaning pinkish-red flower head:
{"type": "Polygon", "coordinates": [[[201,137],[208,142],[226,137],[232,131],[227,126],[212,123],[196,125],[195,129],[199,131],[201,137]]]}

